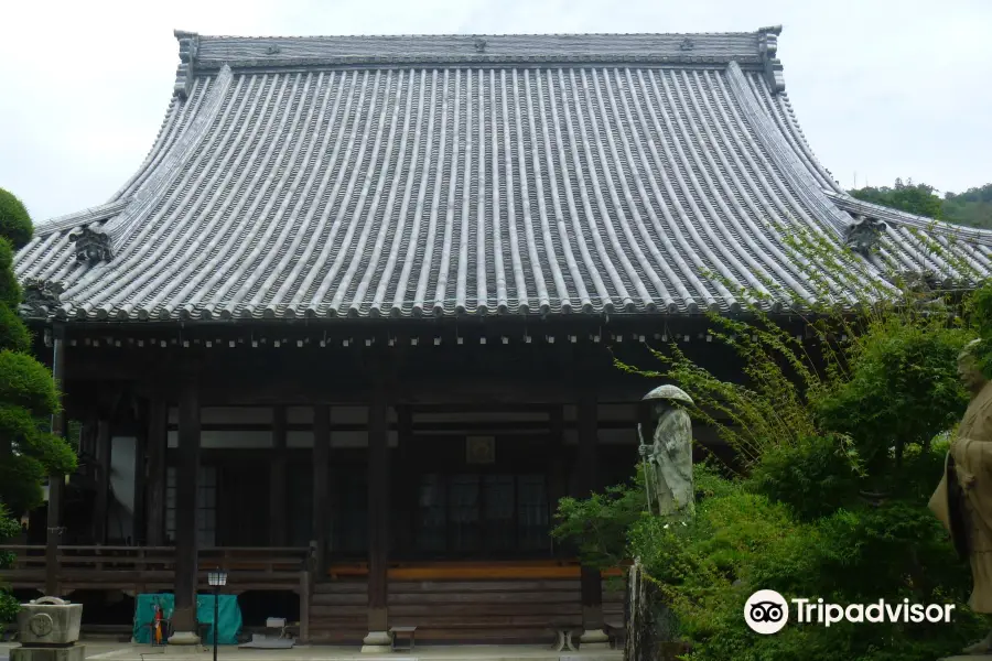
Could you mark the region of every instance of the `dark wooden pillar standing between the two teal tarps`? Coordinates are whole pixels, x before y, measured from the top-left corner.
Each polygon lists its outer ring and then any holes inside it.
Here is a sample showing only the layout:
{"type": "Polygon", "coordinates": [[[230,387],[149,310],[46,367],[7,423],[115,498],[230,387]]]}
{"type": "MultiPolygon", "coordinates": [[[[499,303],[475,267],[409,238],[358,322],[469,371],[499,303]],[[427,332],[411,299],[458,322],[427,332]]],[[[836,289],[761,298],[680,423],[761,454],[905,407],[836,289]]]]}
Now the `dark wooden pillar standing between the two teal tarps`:
{"type": "Polygon", "coordinates": [[[193,378],[183,383],[179,401],[179,465],[175,475],[175,610],[174,644],[196,644],[197,534],[200,486],[200,389],[193,378]]]}

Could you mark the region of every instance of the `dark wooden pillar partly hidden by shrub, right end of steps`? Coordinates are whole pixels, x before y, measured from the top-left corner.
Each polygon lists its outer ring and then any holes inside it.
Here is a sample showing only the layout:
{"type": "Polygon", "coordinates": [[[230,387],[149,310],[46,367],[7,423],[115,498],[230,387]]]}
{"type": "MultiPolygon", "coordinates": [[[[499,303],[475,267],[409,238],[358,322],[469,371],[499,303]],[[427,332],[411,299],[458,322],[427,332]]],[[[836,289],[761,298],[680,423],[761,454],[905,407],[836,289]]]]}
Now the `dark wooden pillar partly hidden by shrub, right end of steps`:
{"type": "MultiPolygon", "coordinates": [[[[589,498],[590,492],[599,489],[597,464],[597,426],[599,411],[596,395],[593,391],[583,391],[579,398],[579,497],[589,498]]],[[[603,631],[603,581],[600,571],[582,567],[582,647],[608,647],[608,638],[603,631]]]]}

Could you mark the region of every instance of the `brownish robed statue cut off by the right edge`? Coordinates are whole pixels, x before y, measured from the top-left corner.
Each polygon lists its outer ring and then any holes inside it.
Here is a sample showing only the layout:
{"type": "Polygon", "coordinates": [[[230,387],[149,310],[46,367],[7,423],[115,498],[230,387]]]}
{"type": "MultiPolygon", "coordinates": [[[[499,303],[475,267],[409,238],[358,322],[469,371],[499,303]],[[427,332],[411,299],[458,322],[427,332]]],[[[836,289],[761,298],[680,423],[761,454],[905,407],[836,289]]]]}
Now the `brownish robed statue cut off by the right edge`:
{"type": "MultiPolygon", "coordinates": [[[[971,564],[974,587],[968,605],[975,613],[992,614],[992,382],[975,362],[978,342],[969,344],[958,357],[958,373],[971,391],[971,403],[929,507],[971,564]]],[[[992,653],[992,632],[964,653],[992,653]]]]}

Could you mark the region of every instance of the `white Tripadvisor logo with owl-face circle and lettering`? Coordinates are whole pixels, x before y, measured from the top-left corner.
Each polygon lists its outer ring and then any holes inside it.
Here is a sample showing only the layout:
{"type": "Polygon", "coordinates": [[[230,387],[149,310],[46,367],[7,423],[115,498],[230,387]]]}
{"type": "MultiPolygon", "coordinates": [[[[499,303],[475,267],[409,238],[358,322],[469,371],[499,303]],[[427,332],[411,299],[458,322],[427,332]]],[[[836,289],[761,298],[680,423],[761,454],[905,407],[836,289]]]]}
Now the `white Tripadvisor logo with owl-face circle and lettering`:
{"type": "MultiPolygon", "coordinates": [[[[790,599],[796,622],[829,627],[841,621],[950,622],[953,604],[910,604],[909,599],[889,604],[878,599],[872,604],[827,604],[823,599],[790,599]]],[[[789,603],[774,589],[759,589],[744,604],[744,621],[756,633],[777,633],[789,621],[789,603]]]]}

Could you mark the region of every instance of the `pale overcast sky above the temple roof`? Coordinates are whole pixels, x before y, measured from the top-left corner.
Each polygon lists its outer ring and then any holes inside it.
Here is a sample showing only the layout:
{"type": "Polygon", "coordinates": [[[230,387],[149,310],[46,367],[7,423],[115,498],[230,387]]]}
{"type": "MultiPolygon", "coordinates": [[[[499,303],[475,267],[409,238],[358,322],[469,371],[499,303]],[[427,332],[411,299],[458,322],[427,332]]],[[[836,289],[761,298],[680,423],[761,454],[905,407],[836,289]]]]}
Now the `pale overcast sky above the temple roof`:
{"type": "Polygon", "coordinates": [[[845,187],[992,182],[992,0],[88,0],[2,11],[0,187],[35,221],[101,204],[202,34],[722,32],[783,24],[786,91],[845,187]]]}

